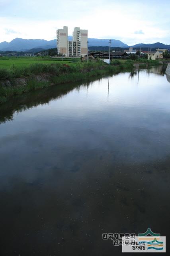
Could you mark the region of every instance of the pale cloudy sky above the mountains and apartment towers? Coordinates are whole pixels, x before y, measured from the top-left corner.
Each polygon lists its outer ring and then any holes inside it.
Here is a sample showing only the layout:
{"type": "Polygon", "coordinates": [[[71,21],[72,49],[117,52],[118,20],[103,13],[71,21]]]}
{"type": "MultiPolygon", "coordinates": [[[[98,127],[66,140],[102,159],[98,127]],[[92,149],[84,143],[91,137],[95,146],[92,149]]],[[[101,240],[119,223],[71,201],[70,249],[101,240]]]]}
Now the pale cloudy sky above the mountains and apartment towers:
{"type": "Polygon", "coordinates": [[[170,0],[0,0],[0,42],[56,38],[68,26],[88,29],[88,38],[125,44],[170,44],[170,0]]]}

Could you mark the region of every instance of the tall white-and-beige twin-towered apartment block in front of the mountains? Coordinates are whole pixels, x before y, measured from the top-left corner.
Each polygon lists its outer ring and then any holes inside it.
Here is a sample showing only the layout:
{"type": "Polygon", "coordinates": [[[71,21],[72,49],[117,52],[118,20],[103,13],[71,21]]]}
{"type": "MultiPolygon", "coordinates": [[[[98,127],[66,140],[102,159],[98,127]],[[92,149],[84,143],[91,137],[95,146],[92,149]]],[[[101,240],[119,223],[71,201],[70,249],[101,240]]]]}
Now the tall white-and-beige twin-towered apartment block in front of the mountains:
{"type": "Polygon", "coordinates": [[[76,27],[72,32],[72,40],[68,41],[67,38],[68,28],[66,26],[64,26],[63,29],[57,30],[58,54],[64,54],[67,57],[80,57],[84,54],[87,54],[88,30],[82,30],[76,27]]]}

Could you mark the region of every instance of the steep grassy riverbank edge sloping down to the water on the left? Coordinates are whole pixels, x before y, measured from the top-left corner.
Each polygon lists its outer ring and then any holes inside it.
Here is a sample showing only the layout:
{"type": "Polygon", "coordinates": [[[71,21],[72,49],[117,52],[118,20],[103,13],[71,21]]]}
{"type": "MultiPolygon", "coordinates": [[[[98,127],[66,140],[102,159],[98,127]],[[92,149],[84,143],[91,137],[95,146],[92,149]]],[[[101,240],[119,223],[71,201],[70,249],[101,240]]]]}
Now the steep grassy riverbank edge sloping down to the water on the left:
{"type": "Polygon", "coordinates": [[[118,65],[101,65],[97,68],[90,68],[80,70],[80,72],[51,74],[39,73],[30,74],[29,76],[12,78],[11,80],[0,80],[0,104],[10,100],[11,97],[29,92],[55,86],[57,84],[64,84],[68,82],[76,82],[85,80],[89,77],[102,76],[105,74],[117,74],[121,71],[131,71],[134,68],[133,62],[118,65]]]}

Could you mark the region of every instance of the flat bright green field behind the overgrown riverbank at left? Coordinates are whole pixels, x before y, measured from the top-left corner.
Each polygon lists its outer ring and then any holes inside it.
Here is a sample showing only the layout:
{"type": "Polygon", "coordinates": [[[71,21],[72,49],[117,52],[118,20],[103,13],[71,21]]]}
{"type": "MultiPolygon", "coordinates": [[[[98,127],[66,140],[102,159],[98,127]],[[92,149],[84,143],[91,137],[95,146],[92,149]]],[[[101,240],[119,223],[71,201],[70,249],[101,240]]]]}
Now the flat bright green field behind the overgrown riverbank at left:
{"type": "Polygon", "coordinates": [[[43,64],[52,64],[52,63],[63,63],[74,65],[76,62],[80,61],[80,58],[50,58],[50,57],[0,57],[0,69],[11,69],[13,66],[24,67],[29,66],[30,64],[43,63],[43,64]]]}

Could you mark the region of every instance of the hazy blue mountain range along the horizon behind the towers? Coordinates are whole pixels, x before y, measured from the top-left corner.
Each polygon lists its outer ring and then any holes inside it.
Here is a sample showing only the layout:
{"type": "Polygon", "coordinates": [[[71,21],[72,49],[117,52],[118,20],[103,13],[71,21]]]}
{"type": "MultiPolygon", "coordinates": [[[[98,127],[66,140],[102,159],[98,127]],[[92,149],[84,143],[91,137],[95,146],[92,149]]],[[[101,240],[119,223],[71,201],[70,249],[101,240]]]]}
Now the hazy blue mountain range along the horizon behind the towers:
{"type": "MultiPolygon", "coordinates": [[[[68,40],[72,40],[72,36],[68,36],[68,40]]],[[[98,39],[98,38],[88,38],[88,46],[109,46],[109,39],[98,39]]],[[[111,39],[112,47],[122,47],[128,48],[127,44],[124,44],[120,40],[111,39]]],[[[57,40],[53,39],[50,41],[44,39],[22,39],[15,38],[11,42],[0,43],[0,51],[30,51],[30,49],[38,51],[46,50],[49,48],[57,47],[57,40]],[[38,49],[39,48],[39,49],[38,49]]],[[[142,47],[142,48],[166,48],[170,49],[170,45],[165,45],[162,43],[155,44],[135,44],[132,47],[142,47]]]]}

